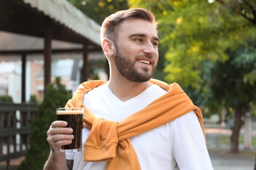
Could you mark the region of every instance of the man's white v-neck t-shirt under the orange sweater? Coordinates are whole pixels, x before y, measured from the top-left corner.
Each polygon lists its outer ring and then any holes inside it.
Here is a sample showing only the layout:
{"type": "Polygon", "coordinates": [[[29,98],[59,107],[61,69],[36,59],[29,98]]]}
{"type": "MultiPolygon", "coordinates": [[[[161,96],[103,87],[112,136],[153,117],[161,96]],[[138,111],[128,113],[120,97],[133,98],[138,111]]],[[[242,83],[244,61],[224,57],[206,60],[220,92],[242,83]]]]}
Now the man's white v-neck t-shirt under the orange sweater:
{"type": "MultiPolygon", "coordinates": [[[[121,122],[131,114],[144,109],[149,103],[166,93],[154,84],[128,101],[120,101],[104,84],[85,94],[83,103],[97,118],[121,122]]],[[[89,129],[83,129],[83,143],[89,129]]],[[[205,146],[200,123],[194,111],[184,114],[163,126],[156,127],[135,137],[131,144],[137,153],[141,169],[213,169],[205,146]]],[[[73,169],[106,169],[106,161],[83,161],[83,151],[66,153],[67,160],[74,160],[73,169]]]]}

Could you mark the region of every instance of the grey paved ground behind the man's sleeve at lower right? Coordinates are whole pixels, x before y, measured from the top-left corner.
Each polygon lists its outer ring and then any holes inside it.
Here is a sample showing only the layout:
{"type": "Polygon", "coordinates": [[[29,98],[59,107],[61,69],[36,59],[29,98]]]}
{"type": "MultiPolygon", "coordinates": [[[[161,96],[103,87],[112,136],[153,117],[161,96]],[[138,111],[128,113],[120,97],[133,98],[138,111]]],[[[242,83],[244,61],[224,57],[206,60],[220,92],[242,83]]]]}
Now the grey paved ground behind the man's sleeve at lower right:
{"type": "MultiPolygon", "coordinates": [[[[232,131],[217,124],[205,124],[207,148],[215,170],[253,170],[255,166],[256,148],[244,150],[240,144],[240,154],[228,154],[230,146],[219,142],[219,137],[230,137],[232,131]]],[[[240,135],[244,135],[241,129],[240,135]]],[[[256,136],[256,124],[253,125],[253,136],[256,136]]]]}

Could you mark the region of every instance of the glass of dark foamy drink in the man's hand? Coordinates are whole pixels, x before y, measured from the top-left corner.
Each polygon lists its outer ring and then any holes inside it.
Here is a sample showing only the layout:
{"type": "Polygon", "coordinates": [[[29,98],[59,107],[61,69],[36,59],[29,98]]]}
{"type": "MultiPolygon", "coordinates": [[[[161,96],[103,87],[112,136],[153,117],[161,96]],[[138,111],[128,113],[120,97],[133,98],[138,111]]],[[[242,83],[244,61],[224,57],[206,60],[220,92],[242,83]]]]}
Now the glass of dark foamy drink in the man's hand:
{"type": "Polygon", "coordinates": [[[82,129],[83,129],[83,108],[70,107],[56,109],[57,119],[68,122],[68,126],[73,129],[71,144],[61,146],[61,152],[79,152],[82,148],[82,129]]]}

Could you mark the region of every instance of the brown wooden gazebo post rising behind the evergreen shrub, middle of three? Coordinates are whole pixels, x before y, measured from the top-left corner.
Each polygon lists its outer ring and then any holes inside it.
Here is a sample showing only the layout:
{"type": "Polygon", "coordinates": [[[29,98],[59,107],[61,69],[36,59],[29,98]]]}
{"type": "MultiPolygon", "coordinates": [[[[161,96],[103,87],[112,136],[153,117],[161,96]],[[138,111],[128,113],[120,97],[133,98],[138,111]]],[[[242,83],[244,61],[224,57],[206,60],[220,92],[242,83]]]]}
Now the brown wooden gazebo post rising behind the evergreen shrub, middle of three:
{"type": "MultiPolygon", "coordinates": [[[[53,38],[52,32],[52,25],[51,20],[47,20],[45,22],[45,41],[44,41],[44,50],[43,50],[43,57],[44,57],[44,73],[45,73],[45,89],[47,84],[51,82],[51,41],[53,38]]],[[[44,90],[45,92],[45,90],[44,90]]]]}

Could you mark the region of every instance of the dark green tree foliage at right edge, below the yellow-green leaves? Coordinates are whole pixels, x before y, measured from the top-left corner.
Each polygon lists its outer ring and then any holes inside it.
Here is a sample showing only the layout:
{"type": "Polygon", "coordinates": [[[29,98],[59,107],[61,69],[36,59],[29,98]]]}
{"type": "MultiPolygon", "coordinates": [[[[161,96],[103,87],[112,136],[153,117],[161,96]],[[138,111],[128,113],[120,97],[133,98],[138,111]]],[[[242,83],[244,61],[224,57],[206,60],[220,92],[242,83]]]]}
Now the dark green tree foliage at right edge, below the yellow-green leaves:
{"type": "Polygon", "coordinates": [[[244,75],[255,68],[256,49],[244,48],[227,52],[229,58],[215,63],[211,73],[212,96],[210,99],[226,108],[244,105],[244,111],[256,100],[256,81],[247,80],[244,75]]]}

